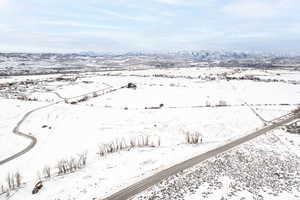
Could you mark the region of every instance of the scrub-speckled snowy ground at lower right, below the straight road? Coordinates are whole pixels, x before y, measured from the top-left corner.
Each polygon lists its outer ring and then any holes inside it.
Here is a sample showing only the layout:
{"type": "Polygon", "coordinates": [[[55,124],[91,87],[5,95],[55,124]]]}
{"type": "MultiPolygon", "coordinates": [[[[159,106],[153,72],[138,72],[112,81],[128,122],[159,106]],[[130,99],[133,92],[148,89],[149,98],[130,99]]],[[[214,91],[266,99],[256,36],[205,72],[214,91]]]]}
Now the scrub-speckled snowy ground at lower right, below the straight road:
{"type": "Polygon", "coordinates": [[[135,200],[300,198],[300,136],[274,130],[169,177],[135,200]]]}

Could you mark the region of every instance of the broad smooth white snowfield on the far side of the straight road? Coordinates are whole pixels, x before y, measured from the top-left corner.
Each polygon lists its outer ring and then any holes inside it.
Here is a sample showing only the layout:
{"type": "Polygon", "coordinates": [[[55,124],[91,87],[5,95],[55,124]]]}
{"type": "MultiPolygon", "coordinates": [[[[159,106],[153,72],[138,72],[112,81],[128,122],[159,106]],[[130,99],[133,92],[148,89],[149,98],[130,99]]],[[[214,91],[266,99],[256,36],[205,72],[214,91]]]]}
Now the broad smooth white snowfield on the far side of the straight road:
{"type": "MultiPolygon", "coordinates": [[[[0,100],[3,110],[0,160],[28,145],[24,138],[12,134],[26,111],[59,103],[33,112],[22,123],[20,130],[35,136],[37,144],[25,155],[0,165],[0,187],[6,186],[8,173],[18,171],[24,184],[17,192],[11,192],[10,199],[104,197],[262,127],[263,121],[253,110],[269,121],[289,113],[300,103],[299,85],[226,81],[222,78],[224,73],[234,74],[237,70],[178,68],[37,76],[38,84],[19,91],[37,101],[0,100]],[[135,83],[137,89],[120,88],[129,82],[135,83]],[[75,105],[63,101],[81,95],[88,98],[75,105]],[[200,132],[203,143],[186,144],[185,132],[200,132]],[[141,135],[149,136],[150,140],[160,138],[160,146],[126,149],[105,157],[97,154],[98,145],[118,139],[128,141],[141,135]],[[58,161],[77,157],[82,152],[88,152],[85,168],[55,176],[44,182],[40,193],[31,195],[45,166],[51,167],[55,174],[58,161]]],[[[278,73],[282,73],[281,77],[290,76],[287,70],[278,73]]],[[[10,80],[18,82],[18,77],[10,80]]],[[[6,195],[0,195],[2,198],[6,195]]]]}

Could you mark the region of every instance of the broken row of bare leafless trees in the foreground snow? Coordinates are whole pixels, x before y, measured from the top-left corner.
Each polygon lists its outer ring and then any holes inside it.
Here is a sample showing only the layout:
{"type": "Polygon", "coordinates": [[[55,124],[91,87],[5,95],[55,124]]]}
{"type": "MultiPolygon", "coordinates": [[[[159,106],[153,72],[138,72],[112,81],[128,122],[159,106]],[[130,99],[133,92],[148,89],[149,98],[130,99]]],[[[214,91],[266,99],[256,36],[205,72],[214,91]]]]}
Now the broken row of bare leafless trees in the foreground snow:
{"type": "MultiPolygon", "coordinates": [[[[199,132],[184,132],[185,142],[187,144],[199,144],[202,143],[202,135],[199,132]]],[[[119,152],[122,150],[130,150],[132,148],[141,147],[159,147],[161,145],[160,137],[149,136],[149,135],[139,135],[136,137],[131,137],[130,139],[116,139],[112,142],[99,145],[98,155],[100,157],[106,156],[107,154],[119,152]]],[[[87,164],[87,152],[78,154],[78,156],[71,157],[69,159],[62,159],[57,162],[54,172],[50,166],[45,166],[42,170],[42,176],[38,173],[38,179],[50,179],[52,176],[60,176],[68,173],[75,172],[82,169],[87,164]]],[[[21,187],[22,176],[19,172],[9,173],[6,178],[6,185],[0,184],[0,195],[9,195],[10,191],[18,189],[21,187]]]]}

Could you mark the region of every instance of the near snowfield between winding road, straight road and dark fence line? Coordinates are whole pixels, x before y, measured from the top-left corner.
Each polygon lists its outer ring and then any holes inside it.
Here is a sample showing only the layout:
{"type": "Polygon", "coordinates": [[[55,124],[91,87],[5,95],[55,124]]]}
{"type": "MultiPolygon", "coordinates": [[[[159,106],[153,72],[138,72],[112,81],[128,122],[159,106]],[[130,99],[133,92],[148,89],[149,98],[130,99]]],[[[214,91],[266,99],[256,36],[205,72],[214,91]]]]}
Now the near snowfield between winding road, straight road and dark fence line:
{"type": "MultiPolygon", "coordinates": [[[[82,176],[92,177],[88,179],[88,184],[96,182],[107,185],[105,188],[102,186],[95,191],[95,194],[101,196],[115,191],[113,188],[118,188],[119,185],[131,183],[130,180],[137,176],[149,174],[155,169],[164,169],[184,160],[186,156],[191,157],[205,152],[259,126],[262,126],[262,122],[247,108],[225,107],[172,111],[162,109],[136,112],[83,106],[71,108],[69,105],[61,104],[33,114],[27,120],[27,123],[21,128],[25,132],[32,132],[37,137],[36,147],[21,158],[7,163],[0,173],[1,177],[5,178],[6,173],[12,168],[18,169],[24,174],[24,180],[31,182],[35,180],[37,171],[41,171],[45,165],[54,168],[58,160],[87,150],[89,164],[84,169],[85,173],[82,176]],[[240,120],[240,114],[247,119],[240,120]],[[195,116],[198,117],[195,118],[195,116]],[[87,118],[89,120],[86,120],[87,118]],[[71,125],[67,126],[66,124],[71,125]],[[43,125],[47,125],[51,129],[42,128],[43,125]],[[199,146],[185,145],[183,131],[187,130],[200,131],[204,138],[203,144],[199,146]],[[161,146],[157,149],[143,148],[98,159],[96,154],[98,144],[109,142],[114,138],[130,138],[138,135],[160,136],[161,146]],[[172,155],[177,155],[176,159],[172,155]],[[120,164],[123,159],[123,163],[120,164]],[[24,165],[24,163],[27,164],[24,165]],[[5,167],[7,167],[6,170],[5,167]],[[94,175],[95,169],[97,169],[96,174],[98,175],[94,175]],[[124,174],[118,176],[120,180],[116,181],[114,174],[122,171],[124,174]],[[97,177],[96,180],[95,177],[97,177]],[[121,179],[121,177],[123,178],[121,179]]],[[[73,180],[80,182],[82,176],[74,176],[73,180]]],[[[62,184],[62,188],[65,185],[62,184]]],[[[28,187],[30,190],[32,185],[28,185],[28,187]]],[[[82,185],[80,188],[88,189],[86,185],[82,185]]],[[[50,191],[52,197],[52,189],[50,191]]],[[[70,192],[69,190],[65,191],[67,194],[70,192]]],[[[58,197],[64,197],[66,193],[57,194],[58,197]]],[[[95,194],[87,193],[79,199],[89,199],[95,194]]],[[[17,199],[18,195],[23,196],[24,193],[18,192],[14,197],[17,199]]],[[[49,193],[45,195],[49,195],[49,193]]],[[[76,195],[77,193],[74,193],[74,197],[76,195]]],[[[45,197],[48,199],[50,196],[45,197]]],[[[39,195],[36,197],[41,198],[39,195]]]]}

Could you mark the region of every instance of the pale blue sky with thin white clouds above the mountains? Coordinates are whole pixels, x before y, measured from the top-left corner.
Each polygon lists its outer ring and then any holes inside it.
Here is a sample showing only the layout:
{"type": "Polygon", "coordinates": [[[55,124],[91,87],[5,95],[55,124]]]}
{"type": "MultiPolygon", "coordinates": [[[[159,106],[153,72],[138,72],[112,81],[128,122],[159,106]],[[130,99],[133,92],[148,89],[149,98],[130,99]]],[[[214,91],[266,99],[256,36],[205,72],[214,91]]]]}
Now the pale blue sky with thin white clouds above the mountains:
{"type": "Polygon", "coordinates": [[[0,51],[300,53],[299,0],[0,0],[0,51]]]}

